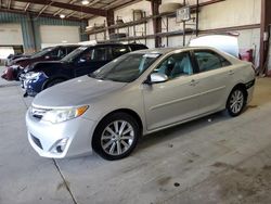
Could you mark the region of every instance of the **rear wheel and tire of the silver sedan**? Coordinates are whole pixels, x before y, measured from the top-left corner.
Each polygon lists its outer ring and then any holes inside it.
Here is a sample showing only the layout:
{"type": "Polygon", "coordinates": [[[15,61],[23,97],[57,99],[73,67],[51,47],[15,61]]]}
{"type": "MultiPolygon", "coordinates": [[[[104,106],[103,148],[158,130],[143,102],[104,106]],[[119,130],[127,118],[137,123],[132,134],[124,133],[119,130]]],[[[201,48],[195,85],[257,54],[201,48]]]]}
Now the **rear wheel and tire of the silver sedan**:
{"type": "Polygon", "coordinates": [[[244,89],[236,87],[234,88],[227,101],[227,111],[230,116],[238,116],[246,105],[246,94],[244,89]]]}

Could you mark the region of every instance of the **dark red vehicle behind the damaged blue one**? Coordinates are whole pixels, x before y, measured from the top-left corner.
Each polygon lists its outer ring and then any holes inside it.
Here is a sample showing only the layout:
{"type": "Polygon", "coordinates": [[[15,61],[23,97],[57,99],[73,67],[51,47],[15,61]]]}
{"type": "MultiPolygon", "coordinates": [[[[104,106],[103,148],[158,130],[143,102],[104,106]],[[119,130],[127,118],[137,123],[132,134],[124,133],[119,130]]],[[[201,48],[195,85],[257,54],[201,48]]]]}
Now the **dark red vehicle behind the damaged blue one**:
{"type": "Polygon", "coordinates": [[[20,74],[23,72],[23,69],[33,63],[40,61],[61,60],[78,47],[79,46],[77,44],[56,46],[52,48],[46,48],[40,52],[33,54],[30,58],[16,59],[14,60],[13,65],[7,67],[1,77],[7,80],[18,80],[20,74]]]}

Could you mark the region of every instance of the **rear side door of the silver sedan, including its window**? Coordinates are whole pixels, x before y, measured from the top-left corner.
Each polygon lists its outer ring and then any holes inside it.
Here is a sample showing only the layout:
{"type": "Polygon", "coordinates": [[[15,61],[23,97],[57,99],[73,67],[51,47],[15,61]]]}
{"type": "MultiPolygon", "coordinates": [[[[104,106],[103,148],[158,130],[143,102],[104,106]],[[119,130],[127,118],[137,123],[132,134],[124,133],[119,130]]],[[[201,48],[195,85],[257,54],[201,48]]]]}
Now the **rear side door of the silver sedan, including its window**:
{"type": "Polygon", "coordinates": [[[232,65],[212,50],[194,50],[197,73],[194,75],[198,97],[198,114],[221,109],[228,98],[231,85],[232,65]]]}

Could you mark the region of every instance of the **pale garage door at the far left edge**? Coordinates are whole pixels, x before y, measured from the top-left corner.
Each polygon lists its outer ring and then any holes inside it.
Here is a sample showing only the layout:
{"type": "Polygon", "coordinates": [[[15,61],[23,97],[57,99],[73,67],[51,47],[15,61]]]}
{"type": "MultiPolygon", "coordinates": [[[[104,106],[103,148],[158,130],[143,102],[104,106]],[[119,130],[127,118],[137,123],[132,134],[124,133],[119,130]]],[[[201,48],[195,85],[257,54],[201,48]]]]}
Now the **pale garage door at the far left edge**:
{"type": "Polygon", "coordinates": [[[22,46],[23,34],[20,24],[1,24],[0,46],[22,46]]]}

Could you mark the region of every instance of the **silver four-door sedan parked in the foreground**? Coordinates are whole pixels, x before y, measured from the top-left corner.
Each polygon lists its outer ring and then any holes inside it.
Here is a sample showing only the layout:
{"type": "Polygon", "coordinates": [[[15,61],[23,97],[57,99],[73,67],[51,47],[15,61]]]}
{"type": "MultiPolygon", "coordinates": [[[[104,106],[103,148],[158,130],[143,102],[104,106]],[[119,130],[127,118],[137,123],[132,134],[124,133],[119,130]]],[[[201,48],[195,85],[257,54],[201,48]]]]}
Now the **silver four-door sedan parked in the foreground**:
{"type": "Polygon", "coordinates": [[[254,84],[251,63],[212,48],[137,51],[38,94],[26,114],[28,140],[46,157],[93,150],[119,160],[142,135],[222,110],[240,115],[254,84]]]}

